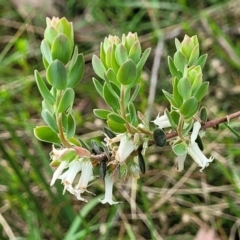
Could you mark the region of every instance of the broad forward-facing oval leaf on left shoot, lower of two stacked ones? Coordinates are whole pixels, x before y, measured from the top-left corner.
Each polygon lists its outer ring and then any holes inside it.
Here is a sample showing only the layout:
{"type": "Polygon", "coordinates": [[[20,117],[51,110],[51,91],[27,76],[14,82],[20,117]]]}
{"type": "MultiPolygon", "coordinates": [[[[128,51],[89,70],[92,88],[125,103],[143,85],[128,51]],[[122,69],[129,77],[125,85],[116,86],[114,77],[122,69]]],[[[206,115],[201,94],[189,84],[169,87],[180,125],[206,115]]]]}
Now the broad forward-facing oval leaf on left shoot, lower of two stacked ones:
{"type": "Polygon", "coordinates": [[[49,65],[46,77],[48,82],[58,90],[63,90],[67,86],[67,71],[59,60],[54,60],[49,65]]]}

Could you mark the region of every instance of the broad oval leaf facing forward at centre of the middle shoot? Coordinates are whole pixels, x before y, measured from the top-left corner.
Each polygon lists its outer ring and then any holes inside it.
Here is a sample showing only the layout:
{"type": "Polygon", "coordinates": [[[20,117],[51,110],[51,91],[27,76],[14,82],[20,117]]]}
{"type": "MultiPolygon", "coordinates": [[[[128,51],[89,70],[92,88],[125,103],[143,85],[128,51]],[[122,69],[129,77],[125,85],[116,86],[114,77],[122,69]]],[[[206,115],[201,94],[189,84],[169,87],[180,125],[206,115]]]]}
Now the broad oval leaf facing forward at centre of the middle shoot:
{"type": "Polygon", "coordinates": [[[129,59],[118,70],[117,80],[123,85],[128,85],[135,80],[136,76],[136,64],[133,60],[129,59]]]}

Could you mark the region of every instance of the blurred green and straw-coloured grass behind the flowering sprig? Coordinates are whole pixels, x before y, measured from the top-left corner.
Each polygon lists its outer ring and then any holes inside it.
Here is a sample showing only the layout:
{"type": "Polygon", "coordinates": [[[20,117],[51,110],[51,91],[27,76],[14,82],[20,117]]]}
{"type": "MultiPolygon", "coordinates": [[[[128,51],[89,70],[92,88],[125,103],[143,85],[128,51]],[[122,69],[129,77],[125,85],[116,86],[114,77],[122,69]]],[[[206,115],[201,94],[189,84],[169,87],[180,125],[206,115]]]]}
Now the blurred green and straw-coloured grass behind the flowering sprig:
{"type": "MultiPolygon", "coordinates": [[[[54,3],[54,2],[53,2],[54,3]]],[[[138,182],[121,182],[114,195],[117,206],[98,204],[104,190],[89,203],[50,188],[51,146],[37,141],[32,129],[42,124],[41,97],[33,70],[43,69],[39,51],[49,13],[24,15],[16,2],[0,2],[0,239],[194,239],[201,228],[212,228],[220,239],[240,239],[240,143],[224,125],[209,129],[205,152],[215,157],[203,173],[189,158],[185,170],[175,171],[167,147],[150,149],[147,172],[138,182]]],[[[24,5],[23,5],[24,6],[24,5]]],[[[31,6],[31,4],[29,4],[31,6]]],[[[86,73],[76,89],[77,133],[101,139],[104,123],[92,109],[104,103],[95,94],[91,55],[108,34],[137,31],[143,48],[152,47],[137,99],[144,112],[148,103],[154,49],[159,33],[164,41],[158,71],[154,118],[167,102],[161,89],[170,87],[167,55],[175,51],[174,37],[197,34],[209,55],[204,78],[210,91],[204,100],[210,118],[239,111],[240,3],[220,1],[58,1],[54,10],[73,21],[76,43],[85,54],[86,73]]],[[[27,8],[26,8],[27,9],[27,8]]],[[[240,132],[239,119],[231,122],[240,132]]]]}

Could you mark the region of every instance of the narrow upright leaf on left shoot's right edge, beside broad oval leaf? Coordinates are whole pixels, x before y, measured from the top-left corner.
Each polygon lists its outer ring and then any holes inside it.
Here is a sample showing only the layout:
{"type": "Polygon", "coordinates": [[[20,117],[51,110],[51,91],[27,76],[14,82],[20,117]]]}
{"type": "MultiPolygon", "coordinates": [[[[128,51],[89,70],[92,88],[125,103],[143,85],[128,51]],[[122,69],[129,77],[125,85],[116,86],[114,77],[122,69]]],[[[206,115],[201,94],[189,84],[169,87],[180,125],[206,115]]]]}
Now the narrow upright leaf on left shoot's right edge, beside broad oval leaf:
{"type": "Polygon", "coordinates": [[[79,54],[73,68],[68,72],[68,87],[74,88],[75,86],[77,86],[77,84],[81,81],[83,77],[84,67],[85,63],[83,54],[79,54]]]}

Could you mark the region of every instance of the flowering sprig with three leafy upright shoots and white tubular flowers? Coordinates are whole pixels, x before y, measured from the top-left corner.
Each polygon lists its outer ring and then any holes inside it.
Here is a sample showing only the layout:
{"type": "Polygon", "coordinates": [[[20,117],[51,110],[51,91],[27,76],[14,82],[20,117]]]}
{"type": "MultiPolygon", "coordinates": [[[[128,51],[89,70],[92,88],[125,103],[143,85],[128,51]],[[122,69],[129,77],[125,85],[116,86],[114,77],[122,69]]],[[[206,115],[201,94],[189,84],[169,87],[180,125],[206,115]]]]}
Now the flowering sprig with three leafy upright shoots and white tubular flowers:
{"type": "Polygon", "coordinates": [[[93,84],[109,109],[93,112],[108,127],[104,128],[104,141],[99,145],[92,140],[92,146],[88,147],[75,137],[72,109],[74,87],[84,74],[83,54],[74,47],[72,23],[65,18],[47,18],[41,52],[48,86],[35,71],[46,126],[37,126],[34,133],[39,140],[53,144],[50,165],[55,172],[51,186],[59,179],[64,193],[67,190],[78,200],[87,201],[84,195],[93,194],[87,188],[99,177],[105,181],[105,198],[100,201],[116,204],[112,199],[114,183],[126,176],[139,178],[140,172],[145,173],[144,156],[149,146],[169,144],[176,154],[177,171],[183,170],[187,155],[199,165],[200,171],[213,161],[213,157],[204,155],[201,139],[207,127],[227,118],[207,122],[206,108],[201,107],[209,86],[202,74],[207,55],[200,55],[197,36],[185,36],[182,42],[176,39],[175,45],[174,56],[168,58],[172,92],[163,90],[170,107],[149,123],[136,110],[134,100],[150,49],[142,51],[137,33],[104,39],[99,57],[92,58],[98,76],[93,78],[93,84]],[[94,176],[94,168],[99,169],[98,176],[94,176]]]}

